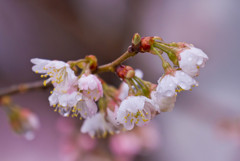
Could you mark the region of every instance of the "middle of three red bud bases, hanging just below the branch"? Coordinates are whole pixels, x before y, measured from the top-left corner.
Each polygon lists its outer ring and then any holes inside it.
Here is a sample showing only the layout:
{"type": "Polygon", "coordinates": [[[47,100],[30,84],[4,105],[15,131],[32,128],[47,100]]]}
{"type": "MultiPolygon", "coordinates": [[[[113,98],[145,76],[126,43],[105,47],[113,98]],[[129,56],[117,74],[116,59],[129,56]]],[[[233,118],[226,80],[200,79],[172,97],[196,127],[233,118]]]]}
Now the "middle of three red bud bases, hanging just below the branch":
{"type": "Polygon", "coordinates": [[[116,68],[116,73],[118,77],[122,79],[129,79],[133,78],[135,76],[135,71],[132,67],[130,66],[125,66],[125,65],[120,65],[116,68]]]}

